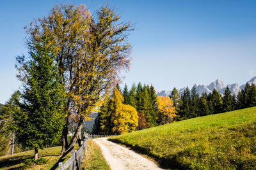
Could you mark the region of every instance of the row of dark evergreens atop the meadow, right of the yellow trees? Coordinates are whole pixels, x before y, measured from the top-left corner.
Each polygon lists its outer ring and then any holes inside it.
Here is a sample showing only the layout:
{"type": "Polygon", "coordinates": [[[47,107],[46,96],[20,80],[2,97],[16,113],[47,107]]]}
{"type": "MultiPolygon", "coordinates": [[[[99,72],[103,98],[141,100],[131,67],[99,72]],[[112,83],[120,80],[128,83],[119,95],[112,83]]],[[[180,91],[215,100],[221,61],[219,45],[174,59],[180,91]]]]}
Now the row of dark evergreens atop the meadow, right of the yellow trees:
{"type": "Polygon", "coordinates": [[[246,83],[237,96],[232,96],[228,87],[225,89],[224,96],[221,96],[216,89],[209,94],[204,92],[199,96],[195,86],[191,90],[186,87],[180,95],[174,88],[170,99],[177,108],[179,120],[184,120],[256,106],[256,86],[246,83]]]}

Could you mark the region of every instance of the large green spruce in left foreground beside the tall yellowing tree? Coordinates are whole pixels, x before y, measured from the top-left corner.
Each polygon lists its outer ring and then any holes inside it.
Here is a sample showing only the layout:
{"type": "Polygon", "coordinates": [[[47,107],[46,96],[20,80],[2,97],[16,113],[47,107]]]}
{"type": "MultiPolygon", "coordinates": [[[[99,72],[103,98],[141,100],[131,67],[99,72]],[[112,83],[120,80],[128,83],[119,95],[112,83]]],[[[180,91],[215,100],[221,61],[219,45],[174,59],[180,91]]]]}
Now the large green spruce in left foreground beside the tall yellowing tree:
{"type": "Polygon", "coordinates": [[[23,60],[26,80],[23,80],[21,95],[23,103],[19,104],[22,111],[13,113],[16,137],[23,146],[35,148],[35,160],[38,159],[38,149],[51,146],[60,138],[64,123],[65,91],[54,62],[56,50],[47,33],[42,35],[42,42],[30,49],[28,62],[23,60]]]}

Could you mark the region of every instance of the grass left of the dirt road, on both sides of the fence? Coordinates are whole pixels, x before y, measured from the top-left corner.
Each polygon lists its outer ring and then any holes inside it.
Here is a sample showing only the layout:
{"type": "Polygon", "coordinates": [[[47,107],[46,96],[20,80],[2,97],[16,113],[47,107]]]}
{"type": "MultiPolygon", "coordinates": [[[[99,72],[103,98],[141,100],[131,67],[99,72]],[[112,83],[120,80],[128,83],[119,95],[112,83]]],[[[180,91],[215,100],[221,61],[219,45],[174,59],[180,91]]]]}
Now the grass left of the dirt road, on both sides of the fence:
{"type": "MultiPolygon", "coordinates": [[[[78,149],[76,145],[75,149],[78,149]]],[[[2,169],[56,169],[58,161],[60,160],[61,146],[52,148],[45,148],[39,150],[39,158],[47,159],[47,164],[36,165],[34,167],[24,168],[26,160],[33,159],[34,151],[16,153],[15,155],[8,155],[0,157],[0,170],[2,169]]],[[[71,153],[68,153],[60,162],[65,162],[70,158],[71,153]]],[[[92,140],[88,141],[88,152],[86,159],[83,159],[82,169],[110,169],[106,160],[104,159],[99,146],[92,140]]]]}

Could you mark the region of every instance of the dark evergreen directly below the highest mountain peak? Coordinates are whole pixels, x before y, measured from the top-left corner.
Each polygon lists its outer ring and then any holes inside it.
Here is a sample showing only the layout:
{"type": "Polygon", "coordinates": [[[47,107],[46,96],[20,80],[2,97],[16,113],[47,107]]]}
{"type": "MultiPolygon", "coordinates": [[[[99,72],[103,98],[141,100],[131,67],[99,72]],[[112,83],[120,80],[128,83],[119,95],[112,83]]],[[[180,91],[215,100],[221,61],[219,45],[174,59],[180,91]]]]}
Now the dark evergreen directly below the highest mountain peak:
{"type": "Polygon", "coordinates": [[[220,93],[216,89],[214,89],[210,94],[210,101],[212,103],[214,113],[221,113],[223,101],[220,93]]]}

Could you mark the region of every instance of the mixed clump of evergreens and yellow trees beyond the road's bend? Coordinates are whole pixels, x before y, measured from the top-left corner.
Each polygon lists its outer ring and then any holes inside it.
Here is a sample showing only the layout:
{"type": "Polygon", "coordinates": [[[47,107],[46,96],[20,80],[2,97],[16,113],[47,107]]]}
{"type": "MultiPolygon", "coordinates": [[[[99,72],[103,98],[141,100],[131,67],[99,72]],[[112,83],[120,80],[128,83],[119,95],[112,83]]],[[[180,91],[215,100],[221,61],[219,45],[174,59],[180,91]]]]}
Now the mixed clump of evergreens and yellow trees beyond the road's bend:
{"type": "Polygon", "coordinates": [[[142,86],[138,83],[136,86],[133,84],[130,90],[126,84],[123,90],[117,85],[100,107],[93,132],[95,134],[122,134],[168,124],[175,120],[175,113],[176,110],[170,98],[157,97],[152,85],[142,86]],[[129,114],[129,111],[125,111],[125,107],[128,106],[133,108],[129,114]],[[118,112],[118,107],[123,108],[123,112],[118,112]],[[116,122],[122,124],[119,125],[122,130],[116,130],[118,129],[116,122]]]}

